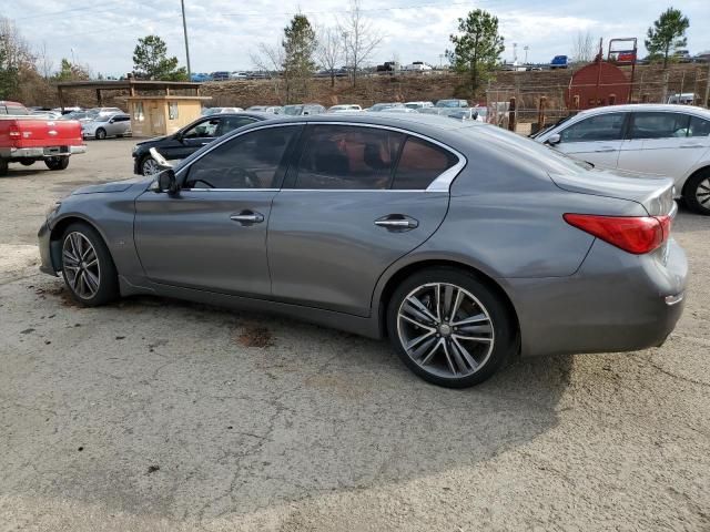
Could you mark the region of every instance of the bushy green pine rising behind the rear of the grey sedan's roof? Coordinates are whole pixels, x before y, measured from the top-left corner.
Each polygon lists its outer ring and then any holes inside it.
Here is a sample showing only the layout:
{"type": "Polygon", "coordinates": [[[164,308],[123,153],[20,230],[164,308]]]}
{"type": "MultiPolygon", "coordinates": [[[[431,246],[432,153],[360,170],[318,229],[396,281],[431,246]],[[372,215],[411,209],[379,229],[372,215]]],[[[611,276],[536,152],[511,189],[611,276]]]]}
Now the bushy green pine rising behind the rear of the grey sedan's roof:
{"type": "Polygon", "coordinates": [[[458,35],[449,37],[454,50],[447,50],[446,57],[456,71],[469,75],[470,94],[475,96],[505,50],[498,18],[477,9],[458,19],[458,35]]]}

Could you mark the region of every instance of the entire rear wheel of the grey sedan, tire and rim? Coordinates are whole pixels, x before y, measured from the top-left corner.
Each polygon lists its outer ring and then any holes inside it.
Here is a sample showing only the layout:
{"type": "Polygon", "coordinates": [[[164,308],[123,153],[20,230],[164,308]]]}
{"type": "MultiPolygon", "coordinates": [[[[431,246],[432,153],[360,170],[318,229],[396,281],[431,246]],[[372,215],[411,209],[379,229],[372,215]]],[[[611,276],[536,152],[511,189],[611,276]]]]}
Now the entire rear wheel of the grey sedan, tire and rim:
{"type": "Polygon", "coordinates": [[[474,275],[447,267],[416,273],[397,287],[387,332],[412,371],[448,388],[488,379],[518,345],[500,296],[474,275]]]}

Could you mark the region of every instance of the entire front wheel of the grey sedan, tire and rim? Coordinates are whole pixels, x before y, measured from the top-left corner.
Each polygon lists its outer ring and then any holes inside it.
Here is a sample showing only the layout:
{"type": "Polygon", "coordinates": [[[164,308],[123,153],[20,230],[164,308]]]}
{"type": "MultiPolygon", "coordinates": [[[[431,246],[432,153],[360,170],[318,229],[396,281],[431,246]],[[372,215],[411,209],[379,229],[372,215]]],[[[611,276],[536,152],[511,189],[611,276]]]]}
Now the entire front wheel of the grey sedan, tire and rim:
{"type": "Polygon", "coordinates": [[[62,235],[62,277],[77,303],[97,307],[119,297],[111,253],[93,227],[74,223],[62,235]]]}

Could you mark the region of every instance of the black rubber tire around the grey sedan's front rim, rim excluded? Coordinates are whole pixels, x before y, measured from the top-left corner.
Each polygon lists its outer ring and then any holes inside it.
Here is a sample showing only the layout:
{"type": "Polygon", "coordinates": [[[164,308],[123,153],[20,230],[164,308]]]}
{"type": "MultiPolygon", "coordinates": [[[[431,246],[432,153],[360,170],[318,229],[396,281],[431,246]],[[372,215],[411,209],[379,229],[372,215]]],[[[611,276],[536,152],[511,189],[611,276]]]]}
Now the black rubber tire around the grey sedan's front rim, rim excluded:
{"type": "Polygon", "coordinates": [[[99,234],[97,229],[91,227],[88,224],[83,224],[80,222],[70,224],[64,233],[62,234],[62,277],[64,278],[64,284],[72,295],[73,299],[82,306],[85,307],[98,307],[100,305],[105,305],[119,298],[119,276],[115,269],[115,265],[113,264],[113,258],[111,257],[111,253],[106,247],[103,238],[99,234]],[[69,268],[65,267],[65,255],[63,253],[64,245],[67,239],[72,235],[72,233],[79,233],[84,238],[89,241],[89,243],[93,246],[95,250],[95,256],[98,258],[99,264],[99,287],[91,297],[83,297],[74,287],[71,280],[71,273],[69,273],[69,268]]]}

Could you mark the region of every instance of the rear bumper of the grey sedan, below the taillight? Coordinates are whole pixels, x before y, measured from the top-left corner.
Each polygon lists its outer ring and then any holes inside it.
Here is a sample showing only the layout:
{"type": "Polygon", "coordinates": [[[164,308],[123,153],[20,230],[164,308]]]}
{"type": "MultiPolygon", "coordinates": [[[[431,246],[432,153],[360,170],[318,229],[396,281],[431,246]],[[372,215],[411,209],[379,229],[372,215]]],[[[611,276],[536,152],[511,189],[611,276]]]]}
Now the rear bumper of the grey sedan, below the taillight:
{"type": "Polygon", "coordinates": [[[686,304],[688,262],[674,242],[637,256],[596,241],[570,277],[507,279],[521,355],[635,351],[661,345],[686,304]]]}

